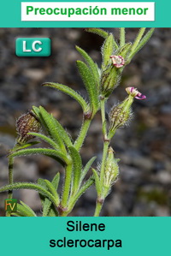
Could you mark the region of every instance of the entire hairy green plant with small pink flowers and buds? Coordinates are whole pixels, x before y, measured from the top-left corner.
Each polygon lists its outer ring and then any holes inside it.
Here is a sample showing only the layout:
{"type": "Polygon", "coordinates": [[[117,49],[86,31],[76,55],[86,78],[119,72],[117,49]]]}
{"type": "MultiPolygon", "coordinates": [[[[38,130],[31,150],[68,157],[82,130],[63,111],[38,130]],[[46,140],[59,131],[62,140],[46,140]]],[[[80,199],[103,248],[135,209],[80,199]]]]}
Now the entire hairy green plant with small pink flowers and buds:
{"type": "MultiPolygon", "coordinates": [[[[97,202],[94,216],[99,216],[103,202],[110,193],[111,187],[119,175],[119,161],[115,158],[115,152],[110,146],[110,141],[118,128],[127,124],[132,116],[132,104],[134,99],[144,99],[145,96],[132,85],[127,86],[127,97],[120,103],[115,104],[109,111],[109,122],[106,120],[105,105],[114,91],[119,86],[123,69],[132,61],[137,52],[150,39],[154,29],[145,33],[145,28],[140,28],[134,40],[126,43],[125,28],[120,29],[120,41],[117,43],[112,33],[102,29],[88,28],[89,33],[97,33],[103,37],[102,65],[97,66],[91,57],[80,47],[76,46],[85,62],[77,61],[77,68],[84,82],[88,98],[85,99],[80,93],[75,92],[68,86],[59,83],[46,82],[43,86],[49,86],[61,92],[67,93],[74,98],[82,107],[83,122],[78,138],[73,141],[65,128],[48,113],[44,107],[32,106],[32,110],[21,116],[16,122],[18,138],[14,148],[9,152],[9,184],[0,188],[0,192],[8,191],[8,198],[12,199],[15,189],[34,189],[38,191],[42,207],[43,217],[68,216],[73,210],[75,203],[85,191],[95,184],[97,190],[97,202]],[[91,158],[85,166],[82,165],[80,149],[85,141],[91,121],[97,111],[101,111],[102,134],[103,134],[103,157],[97,169],[91,169],[96,157],[91,158]],[[44,140],[49,144],[47,148],[33,146],[35,141],[44,140]],[[32,146],[30,148],[30,146],[32,146]],[[58,191],[60,181],[59,172],[52,181],[38,179],[36,183],[14,182],[13,164],[16,157],[42,154],[55,159],[62,164],[64,179],[62,192],[58,191]],[[91,176],[85,179],[88,170],[91,176]]],[[[7,212],[6,216],[35,217],[32,209],[20,202],[16,212],[7,212]]]]}

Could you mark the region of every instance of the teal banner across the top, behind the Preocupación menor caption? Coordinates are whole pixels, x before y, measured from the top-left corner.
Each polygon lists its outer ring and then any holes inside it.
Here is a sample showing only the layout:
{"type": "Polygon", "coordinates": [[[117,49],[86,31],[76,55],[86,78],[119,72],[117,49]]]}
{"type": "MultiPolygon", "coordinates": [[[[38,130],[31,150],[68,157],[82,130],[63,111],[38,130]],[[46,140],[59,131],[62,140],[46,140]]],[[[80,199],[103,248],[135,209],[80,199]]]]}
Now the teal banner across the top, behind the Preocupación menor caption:
{"type": "MultiPolygon", "coordinates": [[[[98,5],[93,5],[95,1],[54,1],[51,0],[49,1],[26,1],[26,0],[9,0],[6,2],[1,3],[1,9],[0,9],[0,27],[170,27],[170,8],[171,8],[171,2],[168,0],[161,1],[161,0],[156,0],[156,1],[97,1],[99,3],[98,5]],[[39,8],[32,9],[32,5],[34,3],[39,3],[38,6],[39,8]],[[55,11],[54,9],[50,8],[47,6],[47,9],[41,8],[41,4],[43,3],[56,3],[56,8],[55,11]],[[69,4],[69,14],[68,14],[68,19],[67,21],[65,20],[64,16],[65,14],[63,13],[65,10],[60,8],[60,4],[57,4],[58,2],[60,3],[71,3],[69,4]],[[88,4],[88,8],[84,8],[86,6],[86,3],[88,4]],[[50,17],[50,15],[54,15],[54,19],[57,21],[49,21],[47,19],[44,19],[44,21],[24,21],[22,19],[22,15],[24,12],[24,9],[21,7],[21,3],[29,3],[28,8],[26,9],[27,16],[31,15],[31,12],[33,14],[36,13],[36,15],[44,16],[47,15],[50,17]],[[81,4],[82,9],[79,8],[72,8],[75,3],[81,4]],[[111,8],[110,9],[105,9],[105,5],[111,3],[111,8]],[[115,3],[123,3],[123,7],[121,9],[117,8],[117,4],[115,3]],[[127,3],[133,3],[131,4],[131,11],[129,8],[127,8],[127,3]],[[144,8],[139,8],[139,4],[143,3],[144,8]],[[152,19],[150,16],[151,10],[146,8],[147,4],[149,3],[154,3],[154,19],[152,19]],[[85,6],[84,6],[85,4],[85,6]],[[103,4],[103,10],[100,8],[100,4],[103,4]],[[138,7],[136,8],[134,4],[138,4],[138,7]],[[112,8],[114,6],[114,8],[112,8]],[[134,10],[133,10],[134,9],[134,10]],[[60,11],[62,10],[62,14],[60,11]],[[116,11],[116,13],[115,13],[116,11]],[[130,12],[129,12],[130,11],[130,12]],[[55,14],[54,14],[55,13],[55,14]],[[61,16],[59,16],[59,13],[61,16]],[[74,15],[75,19],[81,18],[82,21],[74,21],[74,15]],[[91,20],[93,21],[88,21],[88,15],[91,16],[91,20]],[[111,15],[110,20],[109,20],[109,15],[111,15]],[[123,19],[121,19],[121,15],[123,15],[123,19]],[[132,18],[129,16],[130,15],[137,15],[139,16],[145,16],[146,21],[144,19],[139,18],[139,21],[135,21],[134,19],[132,21],[132,18]],[[97,19],[95,19],[95,16],[97,16],[97,19]],[[62,17],[63,19],[61,20],[62,17]],[[112,17],[114,17],[114,21],[112,20],[112,17]],[[95,21],[94,21],[95,20],[95,21]],[[107,20],[107,21],[104,21],[107,20]],[[109,21],[108,21],[109,20],[109,21]],[[118,20],[118,21],[117,21],[118,20]],[[151,21],[153,20],[153,21],[151,21]]],[[[43,5],[44,6],[44,5],[43,5]]],[[[80,5],[78,5],[80,6],[80,5]]],[[[87,6],[86,6],[87,7],[87,6]]],[[[36,16],[35,15],[35,16],[36,16]]]]}

